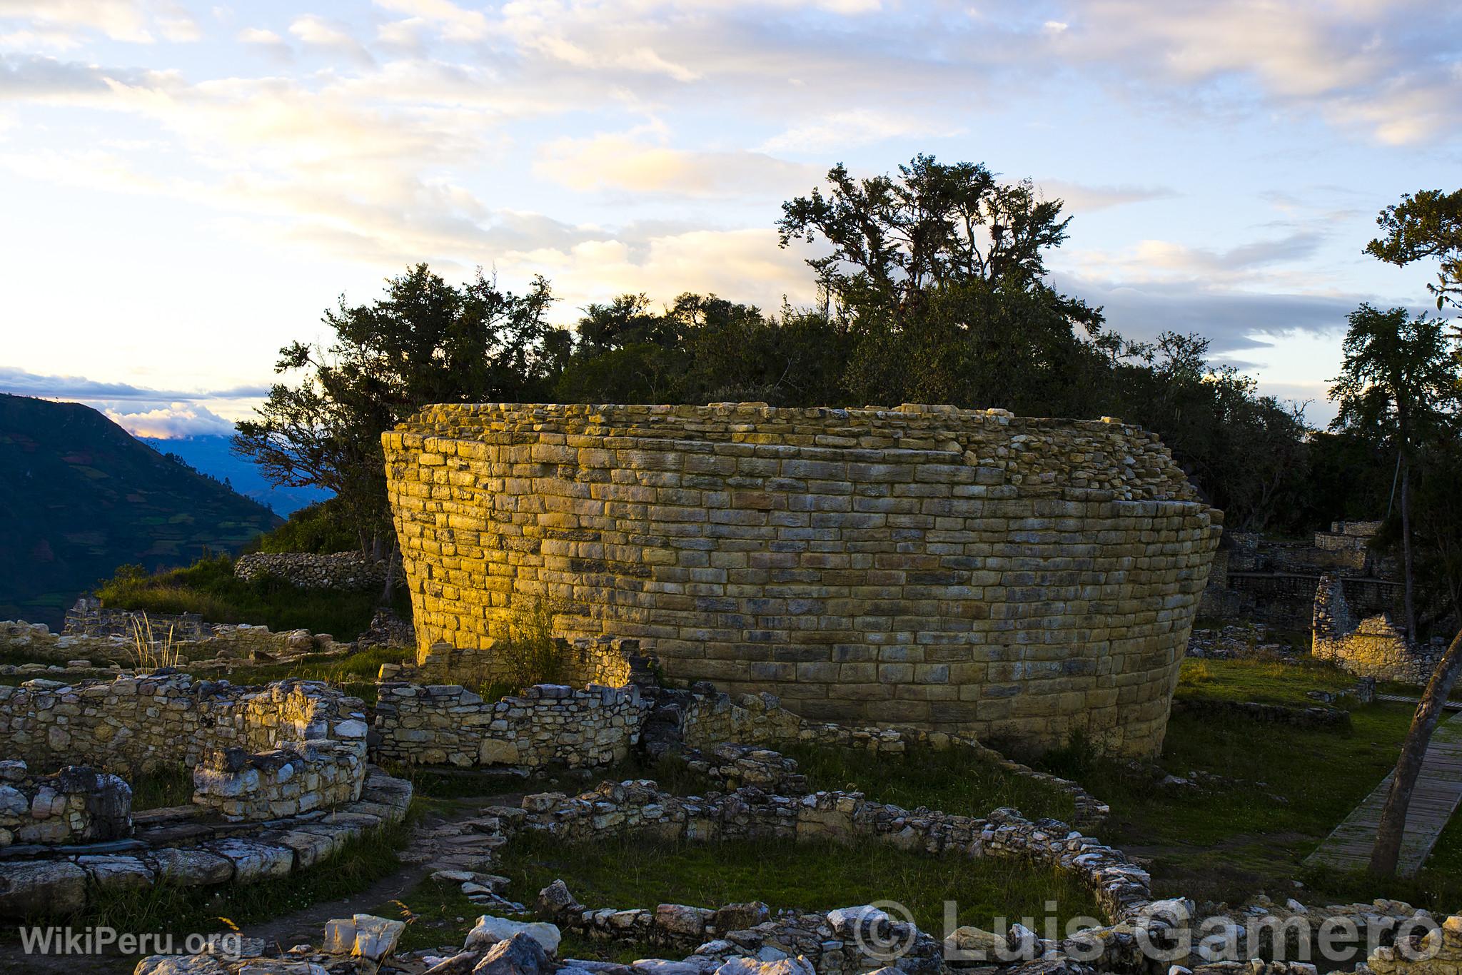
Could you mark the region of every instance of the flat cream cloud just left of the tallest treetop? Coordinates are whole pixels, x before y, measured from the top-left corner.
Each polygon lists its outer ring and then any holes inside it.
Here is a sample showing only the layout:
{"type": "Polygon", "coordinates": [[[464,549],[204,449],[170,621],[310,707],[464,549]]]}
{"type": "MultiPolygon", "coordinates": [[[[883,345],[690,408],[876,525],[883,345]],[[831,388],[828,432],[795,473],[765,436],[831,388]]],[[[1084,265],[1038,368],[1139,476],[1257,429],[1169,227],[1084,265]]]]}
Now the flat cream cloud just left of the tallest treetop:
{"type": "Polygon", "coordinates": [[[539,149],[534,171],[573,190],[687,196],[776,196],[819,175],[814,167],[765,152],[671,149],[632,134],[556,139],[539,149]]]}

